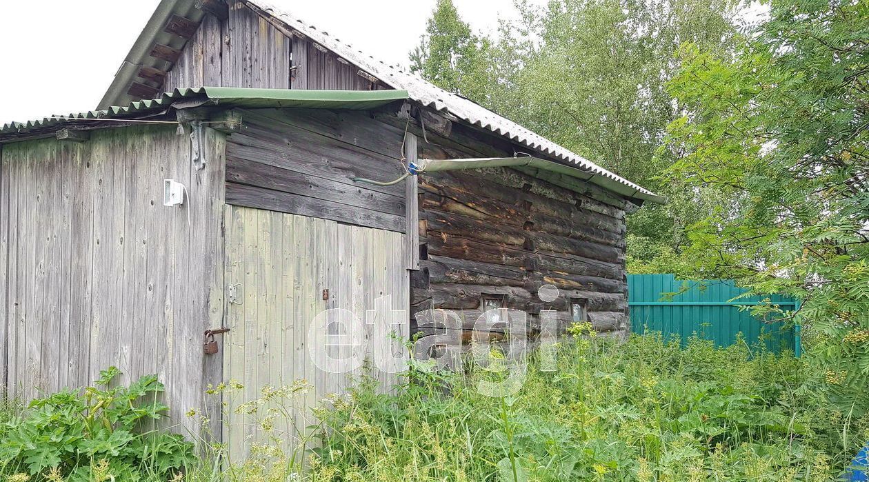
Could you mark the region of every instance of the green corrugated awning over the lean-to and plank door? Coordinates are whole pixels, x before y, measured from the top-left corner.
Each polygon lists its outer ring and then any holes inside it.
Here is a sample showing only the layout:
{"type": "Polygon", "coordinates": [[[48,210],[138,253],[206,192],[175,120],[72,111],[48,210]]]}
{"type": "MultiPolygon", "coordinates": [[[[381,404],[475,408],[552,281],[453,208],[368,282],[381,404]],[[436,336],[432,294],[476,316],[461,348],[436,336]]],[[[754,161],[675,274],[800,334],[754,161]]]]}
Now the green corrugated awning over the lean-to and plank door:
{"type": "Polygon", "coordinates": [[[247,108],[296,108],[296,109],[375,109],[389,102],[408,98],[407,90],[293,90],[293,89],[242,89],[235,87],[199,87],[175,89],[159,98],[130,102],[125,107],[109,107],[105,110],[72,113],[67,116],[43,117],[28,122],[10,122],[0,127],[0,142],[14,141],[16,135],[31,134],[62,124],[87,122],[99,119],[135,119],[153,116],[176,108],[200,105],[247,108]],[[197,102],[198,101],[198,102],[197,102]],[[183,102],[183,106],[176,105],[183,102]]]}

